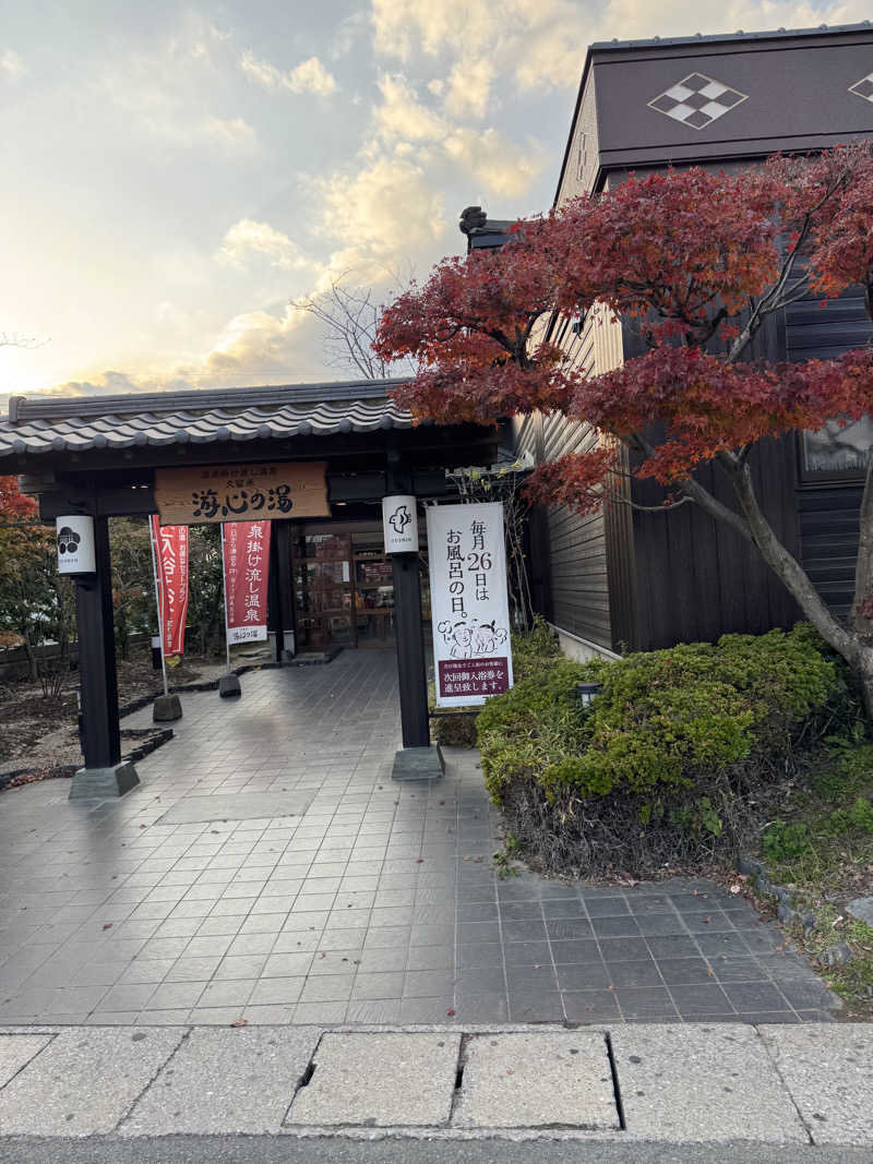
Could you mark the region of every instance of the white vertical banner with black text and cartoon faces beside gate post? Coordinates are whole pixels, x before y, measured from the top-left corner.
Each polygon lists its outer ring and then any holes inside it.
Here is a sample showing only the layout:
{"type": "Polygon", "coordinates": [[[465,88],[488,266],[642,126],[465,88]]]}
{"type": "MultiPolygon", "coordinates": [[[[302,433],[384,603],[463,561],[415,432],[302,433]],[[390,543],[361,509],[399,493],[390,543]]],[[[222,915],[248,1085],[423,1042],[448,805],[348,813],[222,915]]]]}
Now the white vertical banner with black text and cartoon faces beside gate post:
{"type": "Polygon", "coordinates": [[[436,704],[484,703],[512,687],[503,505],[427,510],[436,704]]]}

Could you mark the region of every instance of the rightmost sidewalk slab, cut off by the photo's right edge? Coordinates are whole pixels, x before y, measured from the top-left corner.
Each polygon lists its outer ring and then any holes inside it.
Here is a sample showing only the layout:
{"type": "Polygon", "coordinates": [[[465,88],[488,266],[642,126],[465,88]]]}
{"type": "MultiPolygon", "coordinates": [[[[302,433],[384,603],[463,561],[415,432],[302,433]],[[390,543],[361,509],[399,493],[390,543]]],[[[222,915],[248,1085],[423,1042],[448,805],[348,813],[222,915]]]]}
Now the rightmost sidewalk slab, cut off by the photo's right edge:
{"type": "Polygon", "coordinates": [[[761,1039],[816,1144],[873,1141],[870,1024],[762,1027],[761,1039]]]}

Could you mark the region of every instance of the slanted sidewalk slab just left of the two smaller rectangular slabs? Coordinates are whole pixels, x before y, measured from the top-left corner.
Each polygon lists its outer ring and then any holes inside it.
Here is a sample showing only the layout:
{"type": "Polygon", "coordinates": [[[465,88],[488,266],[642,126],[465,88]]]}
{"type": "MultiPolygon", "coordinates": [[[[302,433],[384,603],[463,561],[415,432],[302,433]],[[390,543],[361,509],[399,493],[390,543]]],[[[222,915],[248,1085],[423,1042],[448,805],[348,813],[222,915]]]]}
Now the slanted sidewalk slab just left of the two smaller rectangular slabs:
{"type": "Polygon", "coordinates": [[[320,1034],[312,1027],[194,1029],[121,1131],[277,1133],[320,1034]]]}

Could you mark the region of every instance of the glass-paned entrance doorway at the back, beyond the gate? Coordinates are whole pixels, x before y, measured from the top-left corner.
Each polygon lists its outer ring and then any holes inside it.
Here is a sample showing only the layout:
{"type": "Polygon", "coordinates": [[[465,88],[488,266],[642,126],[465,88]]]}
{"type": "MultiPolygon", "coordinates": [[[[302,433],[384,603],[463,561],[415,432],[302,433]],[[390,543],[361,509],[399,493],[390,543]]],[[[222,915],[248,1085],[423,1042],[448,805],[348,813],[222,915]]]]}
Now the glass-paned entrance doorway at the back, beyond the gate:
{"type": "MultiPolygon", "coordinates": [[[[307,523],[293,531],[298,651],[395,645],[391,560],[377,521],[307,523]]],[[[421,555],[421,617],[431,592],[421,555]]]]}

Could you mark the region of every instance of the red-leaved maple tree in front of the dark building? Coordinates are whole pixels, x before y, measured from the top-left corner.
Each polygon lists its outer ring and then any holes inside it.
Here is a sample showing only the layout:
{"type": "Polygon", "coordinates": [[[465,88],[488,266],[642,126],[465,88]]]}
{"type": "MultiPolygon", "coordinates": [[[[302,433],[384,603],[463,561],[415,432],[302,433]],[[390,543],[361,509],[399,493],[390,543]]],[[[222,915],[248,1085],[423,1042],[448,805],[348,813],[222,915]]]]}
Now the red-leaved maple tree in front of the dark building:
{"type": "MultiPolygon", "coordinates": [[[[418,374],[397,391],[418,418],[494,421],[560,411],[599,433],[539,466],[531,495],[592,511],[652,477],[757,547],[805,617],[860,676],[873,715],[873,457],[861,504],[853,616],[837,619],[780,541],[748,464],[765,436],[873,413],[873,349],[835,360],[753,359],[766,320],[796,299],[865,289],[873,318],[873,143],[631,178],[519,222],[497,253],[447,258],[381,318],[375,348],[418,374]],[[549,340],[561,319],[619,317],[643,354],[589,374],[549,340]],[[715,463],[736,508],[694,476],[715,463]]],[[[622,494],[622,496],[619,496],[622,494]]]]}

